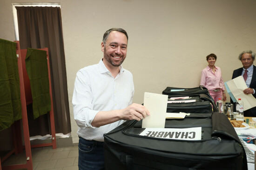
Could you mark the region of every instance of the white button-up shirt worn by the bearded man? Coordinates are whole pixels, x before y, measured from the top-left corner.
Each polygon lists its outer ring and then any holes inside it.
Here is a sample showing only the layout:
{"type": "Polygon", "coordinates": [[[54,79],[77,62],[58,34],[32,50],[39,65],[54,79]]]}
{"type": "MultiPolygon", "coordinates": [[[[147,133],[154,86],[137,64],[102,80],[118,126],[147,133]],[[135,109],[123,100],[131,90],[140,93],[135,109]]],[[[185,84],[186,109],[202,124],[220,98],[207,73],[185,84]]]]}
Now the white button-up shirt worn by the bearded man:
{"type": "Polygon", "coordinates": [[[132,104],[134,83],[131,72],[120,66],[114,78],[105,67],[102,59],[80,69],[74,82],[74,120],[79,126],[77,134],[87,140],[104,141],[103,134],[121,125],[125,120],[101,126],[91,126],[99,111],[124,109],[132,104]]]}

